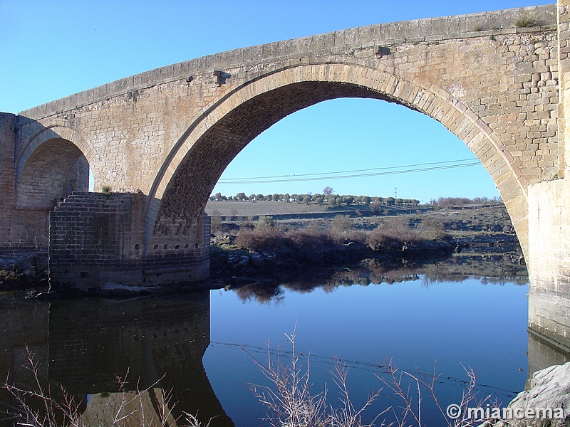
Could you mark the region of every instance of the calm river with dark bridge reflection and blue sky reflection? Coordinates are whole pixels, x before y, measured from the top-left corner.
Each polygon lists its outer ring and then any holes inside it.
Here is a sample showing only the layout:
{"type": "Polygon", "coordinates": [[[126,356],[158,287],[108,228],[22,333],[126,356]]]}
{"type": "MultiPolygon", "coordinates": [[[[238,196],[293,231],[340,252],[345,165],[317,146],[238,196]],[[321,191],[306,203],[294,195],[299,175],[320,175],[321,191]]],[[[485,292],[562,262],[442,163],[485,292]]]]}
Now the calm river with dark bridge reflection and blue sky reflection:
{"type": "MultiPolygon", "coordinates": [[[[289,362],[285,334],[294,330],[296,352],[310,354],[313,390],[326,383],[329,404],[338,396],[329,374],[334,357],[348,367],[356,406],[382,386],[375,374],[385,358],[407,371],[432,372],[437,361],[442,406],[459,402],[463,367],[476,371],[480,397],[492,394],[505,403],[527,381],[526,284],[427,283],[418,275],[392,284],[292,288],[299,287],[282,285],[269,294],[242,288],[125,300],[6,300],[0,305],[0,374],[29,384],[22,367],[27,345],[42,384],[63,384],[87,421],[104,422],[103,413],[116,404],[115,375],[128,371],[127,390],[137,380],[140,388],[157,381],[151,402],[156,390],[172,390],[175,414],[198,412],[217,416],[212,426],[241,427],[263,425],[264,408],[249,384],[269,382],[254,358],[265,361],[269,342],[271,349],[281,346],[281,361],[289,362]]],[[[5,392],[1,401],[10,402],[5,392]]],[[[364,421],[394,404],[379,397],[364,421]]],[[[425,411],[425,423],[440,425],[429,402],[425,411]]]]}

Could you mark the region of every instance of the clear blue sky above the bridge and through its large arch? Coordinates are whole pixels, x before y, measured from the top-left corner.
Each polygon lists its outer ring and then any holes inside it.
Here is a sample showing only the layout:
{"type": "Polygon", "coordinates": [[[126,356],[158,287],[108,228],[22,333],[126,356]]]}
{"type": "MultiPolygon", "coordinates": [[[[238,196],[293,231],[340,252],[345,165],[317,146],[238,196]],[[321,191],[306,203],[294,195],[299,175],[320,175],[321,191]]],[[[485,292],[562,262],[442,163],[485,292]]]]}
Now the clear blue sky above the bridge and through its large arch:
{"type": "MultiPolygon", "coordinates": [[[[372,23],[547,4],[483,1],[0,0],[0,111],[19,112],[182,60],[372,23]]],[[[286,117],[249,144],[224,179],[475,159],[429,117],[378,100],[333,100],[286,117]]],[[[381,170],[372,172],[383,172],[381,170]]],[[[221,181],[222,182],[222,181],[221,181]]],[[[498,196],[482,166],[360,178],[221,184],[214,191],[498,196]]]]}

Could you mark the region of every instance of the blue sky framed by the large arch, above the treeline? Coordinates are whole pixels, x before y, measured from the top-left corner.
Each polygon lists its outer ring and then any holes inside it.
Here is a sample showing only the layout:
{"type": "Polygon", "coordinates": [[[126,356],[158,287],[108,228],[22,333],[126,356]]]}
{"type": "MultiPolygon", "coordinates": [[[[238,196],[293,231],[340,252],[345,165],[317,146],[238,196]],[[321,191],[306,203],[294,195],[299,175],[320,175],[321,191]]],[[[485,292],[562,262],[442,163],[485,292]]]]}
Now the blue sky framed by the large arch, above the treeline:
{"type": "Polygon", "coordinates": [[[340,98],[294,112],[247,144],[210,200],[218,193],[320,194],[326,186],[423,203],[499,196],[481,162],[440,122],[395,102],[340,98]]]}

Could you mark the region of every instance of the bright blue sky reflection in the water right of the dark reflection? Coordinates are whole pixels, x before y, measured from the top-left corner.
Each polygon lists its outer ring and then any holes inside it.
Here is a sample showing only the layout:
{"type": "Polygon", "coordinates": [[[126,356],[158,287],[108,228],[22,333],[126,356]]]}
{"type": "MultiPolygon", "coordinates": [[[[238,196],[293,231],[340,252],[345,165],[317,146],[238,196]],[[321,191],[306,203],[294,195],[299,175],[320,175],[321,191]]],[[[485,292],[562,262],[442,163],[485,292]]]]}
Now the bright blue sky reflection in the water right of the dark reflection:
{"type": "MultiPolygon", "coordinates": [[[[311,382],[316,391],[325,381],[332,389],[326,369],[331,368],[329,358],[336,355],[351,361],[348,381],[357,403],[366,398],[367,389],[380,388],[371,365],[384,357],[393,358],[400,368],[418,365],[424,371],[432,371],[437,360],[448,403],[456,403],[455,396],[461,394],[459,387],[449,384],[467,379],[461,364],[477,371],[478,383],[484,384],[482,393],[497,392],[492,387],[521,391],[527,378],[527,292],[527,285],[512,283],[465,280],[425,288],[418,280],[340,287],[329,293],[320,288],[304,294],[285,290],[278,304],[261,305],[254,300],[243,303],[235,292],[213,290],[212,344],[204,355],[204,367],[237,426],[259,425],[262,409],[247,383],[266,382],[247,354],[227,344],[264,347],[269,339],[271,347],[281,343],[289,350],[284,334],[295,325],[297,352],[312,355],[311,382]]],[[[248,351],[266,358],[254,348],[248,351]]],[[[329,403],[334,400],[331,393],[329,403]]],[[[503,394],[499,400],[510,397],[503,394]]]]}

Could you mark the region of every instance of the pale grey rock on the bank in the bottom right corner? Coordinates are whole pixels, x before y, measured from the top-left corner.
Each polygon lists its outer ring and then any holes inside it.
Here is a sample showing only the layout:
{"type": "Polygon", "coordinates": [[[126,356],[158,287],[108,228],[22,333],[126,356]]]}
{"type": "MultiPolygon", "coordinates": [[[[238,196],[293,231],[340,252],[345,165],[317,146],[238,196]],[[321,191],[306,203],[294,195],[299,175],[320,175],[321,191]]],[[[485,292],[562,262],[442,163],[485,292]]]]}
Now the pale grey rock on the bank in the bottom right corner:
{"type": "Polygon", "coordinates": [[[525,411],[537,413],[550,409],[553,419],[503,419],[494,424],[487,422],[482,424],[482,427],[570,426],[570,362],[535,372],[530,381],[530,389],[519,393],[508,408],[512,409],[514,414],[524,414],[525,411]]]}

